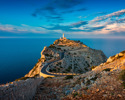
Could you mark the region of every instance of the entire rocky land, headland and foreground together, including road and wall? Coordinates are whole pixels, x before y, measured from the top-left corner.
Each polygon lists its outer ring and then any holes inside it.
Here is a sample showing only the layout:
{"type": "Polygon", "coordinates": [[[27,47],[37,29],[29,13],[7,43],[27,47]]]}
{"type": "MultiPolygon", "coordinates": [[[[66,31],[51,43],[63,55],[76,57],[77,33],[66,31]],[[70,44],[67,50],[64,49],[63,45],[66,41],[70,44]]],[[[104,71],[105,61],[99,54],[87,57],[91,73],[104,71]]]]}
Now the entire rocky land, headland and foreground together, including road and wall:
{"type": "Polygon", "coordinates": [[[107,59],[80,41],[56,40],[28,74],[0,85],[0,100],[31,99],[125,100],[125,51],[107,59]]]}

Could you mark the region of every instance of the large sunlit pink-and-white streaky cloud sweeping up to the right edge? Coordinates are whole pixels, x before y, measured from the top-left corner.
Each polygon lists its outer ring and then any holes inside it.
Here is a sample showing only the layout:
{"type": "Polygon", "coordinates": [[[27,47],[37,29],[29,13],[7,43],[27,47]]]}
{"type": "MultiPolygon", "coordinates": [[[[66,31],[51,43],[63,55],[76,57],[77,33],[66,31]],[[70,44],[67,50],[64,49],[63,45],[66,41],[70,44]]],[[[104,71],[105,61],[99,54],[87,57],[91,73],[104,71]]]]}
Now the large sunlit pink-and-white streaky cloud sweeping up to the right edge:
{"type": "Polygon", "coordinates": [[[53,25],[53,27],[44,27],[47,30],[53,31],[60,31],[60,32],[72,32],[76,34],[113,34],[113,33],[120,33],[125,32],[125,18],[121,18],[124,15],[124,10],[117,11],[111,14],[100,16],[104,20],[100,20],[99,22],[91,23],[93,20],[90,21],[78,21],[76,23],[67,24],[67,25],[53,25]],[[110,17],[117,17],[114,20],[110,19],[110,17]]]}

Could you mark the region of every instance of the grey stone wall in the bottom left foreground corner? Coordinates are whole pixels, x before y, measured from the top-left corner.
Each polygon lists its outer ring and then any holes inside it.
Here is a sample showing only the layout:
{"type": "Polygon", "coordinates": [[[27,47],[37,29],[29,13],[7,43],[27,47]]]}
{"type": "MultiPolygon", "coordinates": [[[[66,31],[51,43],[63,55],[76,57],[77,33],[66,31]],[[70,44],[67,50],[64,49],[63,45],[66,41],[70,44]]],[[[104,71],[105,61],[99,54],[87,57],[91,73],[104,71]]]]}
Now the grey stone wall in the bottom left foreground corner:
{"type": "Polygon", "coordinates": [[[0,85],[0,100],[31,100],[42,80],[30,78],[0,85]]]}

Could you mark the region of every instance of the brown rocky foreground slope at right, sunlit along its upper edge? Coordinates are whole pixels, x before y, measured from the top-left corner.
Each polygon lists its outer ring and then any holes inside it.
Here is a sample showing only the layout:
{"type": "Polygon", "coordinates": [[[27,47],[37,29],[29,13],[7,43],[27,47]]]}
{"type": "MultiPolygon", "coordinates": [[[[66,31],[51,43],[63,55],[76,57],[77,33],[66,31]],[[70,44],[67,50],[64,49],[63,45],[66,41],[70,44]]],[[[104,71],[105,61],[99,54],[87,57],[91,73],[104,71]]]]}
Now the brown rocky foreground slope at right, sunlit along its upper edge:
{"type": "Polygon", "coordinates": [[[125,100],[125,51],[84,74],[47,78],[40,88],[35,96],[40,99],[125,100]]]}

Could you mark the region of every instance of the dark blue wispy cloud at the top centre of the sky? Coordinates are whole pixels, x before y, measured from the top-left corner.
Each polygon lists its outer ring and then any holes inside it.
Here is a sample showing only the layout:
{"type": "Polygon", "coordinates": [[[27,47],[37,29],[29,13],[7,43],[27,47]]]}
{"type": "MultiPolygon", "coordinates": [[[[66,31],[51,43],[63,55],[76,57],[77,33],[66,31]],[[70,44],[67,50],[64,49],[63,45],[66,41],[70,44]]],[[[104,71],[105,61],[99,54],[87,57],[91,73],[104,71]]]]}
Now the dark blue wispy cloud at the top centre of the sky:
{"type": "Polygon", "coordinates": [[[85,0],[48,0],[44,6],[36,9],[31,15],[43,18],[47,22],[57,20],[55,23],[59,24],[66,19],[65,14],[87,10],[86,8],[78,9],[76,7],[84,2],[85,0]]]}

